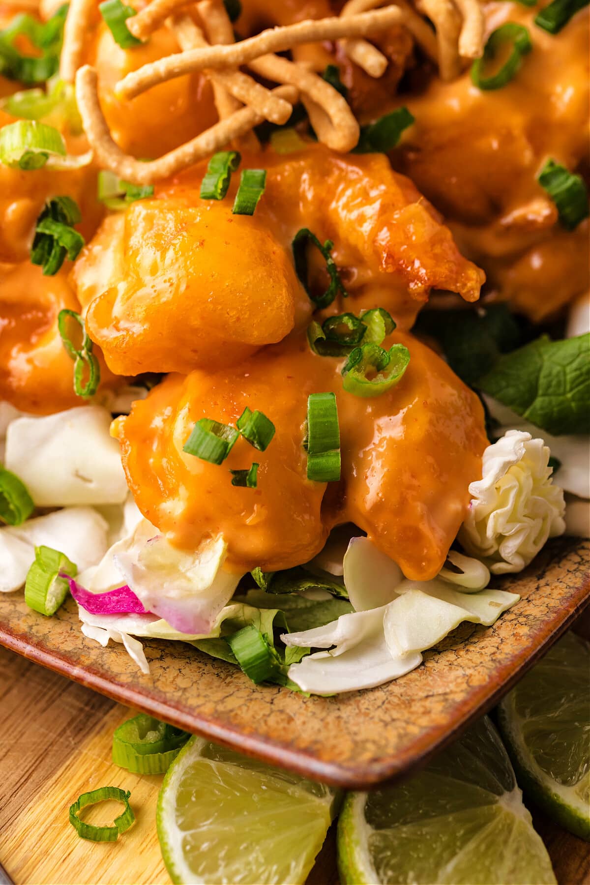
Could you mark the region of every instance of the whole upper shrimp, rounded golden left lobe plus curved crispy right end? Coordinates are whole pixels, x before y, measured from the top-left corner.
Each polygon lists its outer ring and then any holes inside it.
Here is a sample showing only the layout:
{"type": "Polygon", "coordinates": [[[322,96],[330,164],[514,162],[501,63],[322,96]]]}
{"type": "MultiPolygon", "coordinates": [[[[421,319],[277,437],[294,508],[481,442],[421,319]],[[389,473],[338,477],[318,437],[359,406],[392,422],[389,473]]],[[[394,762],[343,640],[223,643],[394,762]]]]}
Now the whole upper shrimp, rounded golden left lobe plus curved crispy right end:
{"type": "MultiPolygon", "coordinates": [[[[260,166],[253,216],[232,213],[238,174],[223,201],[200,198],[202,164],[106,219],[81,253],[73,281],[113,372],[215,370],[303,327],[313,304],[291,248],[303,227],[334,243],[350,297],[331,312],[380,306],[409,327],[433,287],[478,297],[483,274],[387,158],[322,145],[242,158],[242,168],[260,166]]],[[[318,250],[309,263],[310,287],[326,289],[318,250]]]]}

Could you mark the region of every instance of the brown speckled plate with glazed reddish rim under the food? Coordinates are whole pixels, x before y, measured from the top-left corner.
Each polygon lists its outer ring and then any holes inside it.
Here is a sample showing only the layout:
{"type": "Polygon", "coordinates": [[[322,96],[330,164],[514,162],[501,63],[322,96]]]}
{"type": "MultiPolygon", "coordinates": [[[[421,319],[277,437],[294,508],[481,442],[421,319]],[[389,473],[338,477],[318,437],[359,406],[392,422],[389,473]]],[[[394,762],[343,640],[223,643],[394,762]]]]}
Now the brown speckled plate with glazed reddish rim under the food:
{"type": "Polygon", "coordinates": [[[522,596],[494,627],[464,624],[422,666],[377,689],[304,697],[255,686],[185,643],[144,641],[151,673],[121,645],[80,632],[70,599],[54,618],[0,595],[0,644],[123,704],[251,756],[343,787],[408,772],[488,710],[590,602],[587,542],[560,539],[494,586],[522,596]]]}

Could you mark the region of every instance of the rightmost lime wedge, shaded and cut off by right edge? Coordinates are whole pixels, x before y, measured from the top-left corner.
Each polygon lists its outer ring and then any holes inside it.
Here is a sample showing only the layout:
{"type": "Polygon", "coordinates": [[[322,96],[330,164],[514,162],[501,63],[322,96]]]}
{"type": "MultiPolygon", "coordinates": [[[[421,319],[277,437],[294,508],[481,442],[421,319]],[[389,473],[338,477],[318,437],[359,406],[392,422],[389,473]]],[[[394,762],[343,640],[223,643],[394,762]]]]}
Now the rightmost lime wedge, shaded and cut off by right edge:
{"type": "Polygon", "coordinates": [[[568,633],[498,708],[527,797],[590,841],[590,643],[568,633]]]}

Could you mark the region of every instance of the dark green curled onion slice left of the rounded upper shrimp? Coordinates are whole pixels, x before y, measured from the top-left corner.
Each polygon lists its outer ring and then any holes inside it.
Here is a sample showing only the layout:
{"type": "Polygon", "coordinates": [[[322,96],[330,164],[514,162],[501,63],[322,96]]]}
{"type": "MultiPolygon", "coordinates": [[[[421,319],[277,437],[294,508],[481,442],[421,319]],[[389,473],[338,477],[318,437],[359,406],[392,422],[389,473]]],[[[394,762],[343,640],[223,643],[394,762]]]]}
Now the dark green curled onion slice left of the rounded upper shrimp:
{"type": "Polygon", "coordinates": [[[44,276],[57,273],[66,256],[73,261],[80,254],[84,238],[72,227],[80,219],[80,209],[70,196],[55,196],[45,205],[31,249],[31,261],[42,266],[44,276]]]}

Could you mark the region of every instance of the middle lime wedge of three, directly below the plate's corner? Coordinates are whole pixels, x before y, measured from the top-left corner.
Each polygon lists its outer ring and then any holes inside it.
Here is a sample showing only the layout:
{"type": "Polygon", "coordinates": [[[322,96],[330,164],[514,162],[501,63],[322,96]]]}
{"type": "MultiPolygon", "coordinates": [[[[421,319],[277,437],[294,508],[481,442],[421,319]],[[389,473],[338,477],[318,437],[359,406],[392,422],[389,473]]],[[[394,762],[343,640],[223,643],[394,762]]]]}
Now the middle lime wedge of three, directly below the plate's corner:
{"type": "Polygon", "coordinates": [[[342,885],[556,881],[487,717],[409,781],[349,793],[338,866],[342,885]]]}

